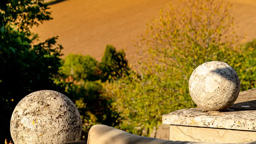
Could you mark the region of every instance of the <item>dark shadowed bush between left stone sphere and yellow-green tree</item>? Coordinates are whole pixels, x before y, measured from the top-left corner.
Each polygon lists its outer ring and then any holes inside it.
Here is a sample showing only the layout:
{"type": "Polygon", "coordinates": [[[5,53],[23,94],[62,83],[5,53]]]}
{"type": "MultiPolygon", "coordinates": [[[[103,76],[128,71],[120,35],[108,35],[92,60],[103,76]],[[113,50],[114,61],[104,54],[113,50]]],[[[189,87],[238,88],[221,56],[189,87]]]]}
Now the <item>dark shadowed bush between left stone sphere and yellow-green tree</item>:
{"type": "Polygon", "coordinates": [[[75,103],[82,119],[82,140],[86,140],[91,126],[104,124],[108,126],[119,126],[122,117],[112,106],[112,99],[103,95],[102,83],[99,81],[69,81],[55,79],[55,83],[64,87],[62,93],[69,95],[75,103]]]}

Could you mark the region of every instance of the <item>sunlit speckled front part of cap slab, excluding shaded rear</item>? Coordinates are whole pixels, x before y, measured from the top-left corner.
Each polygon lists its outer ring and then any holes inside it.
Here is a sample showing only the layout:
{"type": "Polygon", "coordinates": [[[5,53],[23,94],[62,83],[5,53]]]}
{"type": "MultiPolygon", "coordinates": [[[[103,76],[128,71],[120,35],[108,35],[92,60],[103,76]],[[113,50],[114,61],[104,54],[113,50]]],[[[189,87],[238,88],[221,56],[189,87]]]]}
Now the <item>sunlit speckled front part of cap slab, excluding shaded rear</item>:
{"type": "Polygon", "coordinates": [[[182,109],[163,115],[163,124],[256,131],[256,111],[202,112],[182,109]]]}

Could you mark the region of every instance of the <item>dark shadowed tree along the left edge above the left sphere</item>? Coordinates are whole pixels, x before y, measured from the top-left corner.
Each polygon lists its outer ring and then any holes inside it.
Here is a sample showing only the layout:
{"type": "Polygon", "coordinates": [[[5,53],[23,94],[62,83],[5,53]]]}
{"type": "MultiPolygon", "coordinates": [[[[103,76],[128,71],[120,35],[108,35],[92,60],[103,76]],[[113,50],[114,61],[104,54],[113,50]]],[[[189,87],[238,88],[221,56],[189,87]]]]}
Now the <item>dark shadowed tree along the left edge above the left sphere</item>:
{"type": "Polygon", "coordinates": [[[61,66],[62,46],[57,37],[37,45],[34,25],[52,19],[43,0],[3,0],[0,2],[0,139],[10,138],[10,118],[14,107],[33,91],[56,90],[53,77],[61,66]]]}

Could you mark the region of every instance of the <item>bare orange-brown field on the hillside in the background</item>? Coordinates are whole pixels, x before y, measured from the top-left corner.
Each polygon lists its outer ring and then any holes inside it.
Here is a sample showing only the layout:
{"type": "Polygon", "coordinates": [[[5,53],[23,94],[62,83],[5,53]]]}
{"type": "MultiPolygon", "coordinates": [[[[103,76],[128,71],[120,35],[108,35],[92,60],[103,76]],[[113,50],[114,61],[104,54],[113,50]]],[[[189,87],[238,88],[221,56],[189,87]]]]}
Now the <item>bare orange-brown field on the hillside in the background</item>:
{"type": "MultiPolygon", "coordinates": [[[[227,0],[226,0],[227,1],[227,0]]],[[[136,52],[134,42],[144,33],[146,23],[158,18],[179,0],[66,0],[51,5],[53,20],[33,28],[40,40],[59,36],[65,55],[81,53],[101,59],[106,44],[126,48],[127,56],[136,52]]],[[[256,1],[230,0],[236,5],[237,34],[247,33],[247,41],[256,38],[256,1]]]]}

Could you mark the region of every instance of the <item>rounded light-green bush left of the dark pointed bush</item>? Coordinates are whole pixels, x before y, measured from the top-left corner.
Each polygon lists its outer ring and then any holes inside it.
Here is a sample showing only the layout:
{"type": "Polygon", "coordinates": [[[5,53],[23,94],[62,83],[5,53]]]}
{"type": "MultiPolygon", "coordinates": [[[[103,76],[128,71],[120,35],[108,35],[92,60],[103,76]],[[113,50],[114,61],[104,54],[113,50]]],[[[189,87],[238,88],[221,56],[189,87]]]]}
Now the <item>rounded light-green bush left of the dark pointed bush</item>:
{"type": "Polygon", "coordinates": [[[91,56],[81,54],[69,54],[65,57],[61,72],[67,76],[73,76],[74,80],[100,80],[98,61],[91,56]]]}

